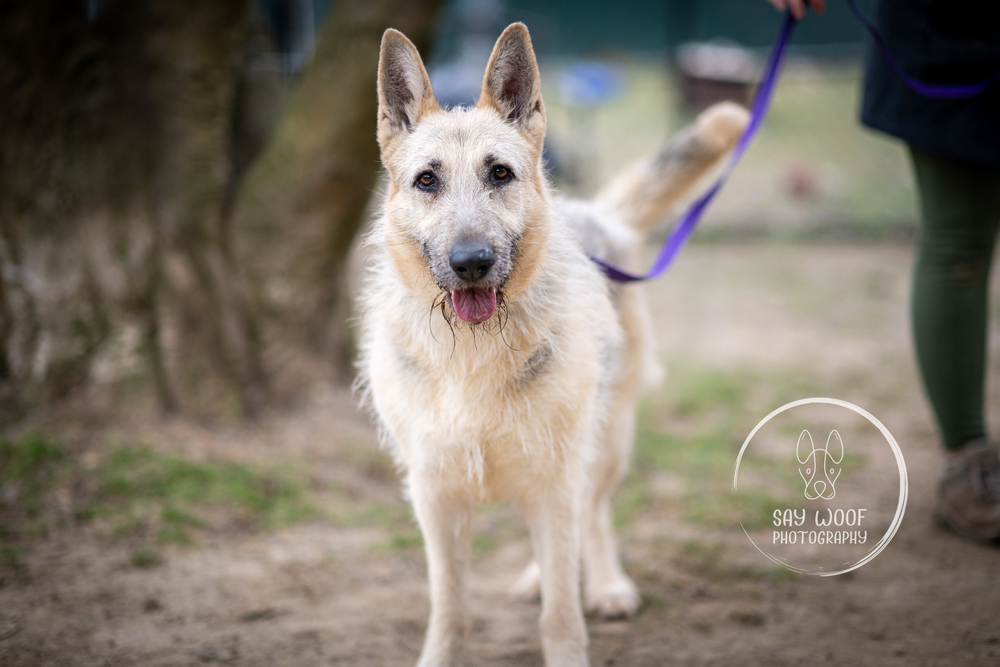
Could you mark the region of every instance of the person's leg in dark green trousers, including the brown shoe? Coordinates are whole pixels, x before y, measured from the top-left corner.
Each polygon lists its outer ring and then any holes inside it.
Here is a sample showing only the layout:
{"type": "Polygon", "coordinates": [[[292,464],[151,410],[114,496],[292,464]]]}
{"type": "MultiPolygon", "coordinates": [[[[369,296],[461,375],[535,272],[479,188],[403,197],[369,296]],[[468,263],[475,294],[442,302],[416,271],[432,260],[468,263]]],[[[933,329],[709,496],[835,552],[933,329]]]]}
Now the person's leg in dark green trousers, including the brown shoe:
{"type": "Polygon", "coordinates": [[[911,147],[923,225],[913,337],[947,463],[938,516],[967,537],[1000,537],[1000,455],[983,416],[989,273],[1000,173],[911,147]]]}

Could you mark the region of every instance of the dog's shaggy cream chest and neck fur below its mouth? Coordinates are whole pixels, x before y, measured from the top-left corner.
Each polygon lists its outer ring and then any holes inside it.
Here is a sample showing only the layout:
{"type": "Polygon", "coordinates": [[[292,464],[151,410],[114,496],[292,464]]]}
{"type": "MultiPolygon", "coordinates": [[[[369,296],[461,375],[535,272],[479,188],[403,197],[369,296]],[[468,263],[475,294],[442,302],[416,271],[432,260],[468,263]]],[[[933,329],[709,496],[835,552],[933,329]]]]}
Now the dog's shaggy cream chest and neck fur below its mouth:
{"type": "Polygon", "coordinates": [[[507,304],[502,329],[449,323],[373,245],[362,369],[405,468],[506,498],[544,480],[555,459],[589,458],[622,334],[604,279],[568,229],[507,304]]]}

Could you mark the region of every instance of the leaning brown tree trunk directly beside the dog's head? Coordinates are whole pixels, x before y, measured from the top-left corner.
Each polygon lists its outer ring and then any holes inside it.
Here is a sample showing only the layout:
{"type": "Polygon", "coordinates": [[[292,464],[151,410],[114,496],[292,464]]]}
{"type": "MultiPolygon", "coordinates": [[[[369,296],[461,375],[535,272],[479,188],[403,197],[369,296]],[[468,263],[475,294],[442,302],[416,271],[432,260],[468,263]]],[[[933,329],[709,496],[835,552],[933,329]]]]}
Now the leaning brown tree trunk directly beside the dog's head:
{"type": "Polygon", "coordinates": [[[339,0],[284,116],[236,203],[240,256],[282,333],[329,360],[354,356],[345,269],[378,175],[375,80],[382,33],[425,49],[439,0],[339,0]]]}

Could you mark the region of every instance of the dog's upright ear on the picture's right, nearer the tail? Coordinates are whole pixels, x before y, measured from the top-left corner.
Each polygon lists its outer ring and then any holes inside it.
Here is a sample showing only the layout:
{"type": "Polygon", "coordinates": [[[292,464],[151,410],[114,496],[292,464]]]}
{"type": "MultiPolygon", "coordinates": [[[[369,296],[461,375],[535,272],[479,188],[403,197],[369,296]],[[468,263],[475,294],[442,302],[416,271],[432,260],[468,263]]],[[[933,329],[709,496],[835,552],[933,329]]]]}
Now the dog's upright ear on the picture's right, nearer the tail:
{"type": "Polygon", "coordinates": [[[512,120],[541,149],[545,139],[545,105],[531,37],[523,23],[512,23],[493,47],[483,76],[480,107],[493,107],[512,120]]]}

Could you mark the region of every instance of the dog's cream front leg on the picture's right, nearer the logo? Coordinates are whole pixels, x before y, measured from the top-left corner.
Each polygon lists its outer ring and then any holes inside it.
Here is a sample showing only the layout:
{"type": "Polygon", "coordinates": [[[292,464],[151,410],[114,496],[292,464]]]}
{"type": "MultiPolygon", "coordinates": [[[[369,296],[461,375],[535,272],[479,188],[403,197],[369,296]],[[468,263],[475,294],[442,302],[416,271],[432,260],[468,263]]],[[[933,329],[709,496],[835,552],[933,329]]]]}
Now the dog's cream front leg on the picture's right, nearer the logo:
{"type": "Polygon", "coordinates": [[[569,479],[548,484],[539,489],[527,508],[535,559],[541,569],[542,652],[547,667],[589,664],[587,626],[580,604],[578,488],[569,479]]]}

